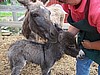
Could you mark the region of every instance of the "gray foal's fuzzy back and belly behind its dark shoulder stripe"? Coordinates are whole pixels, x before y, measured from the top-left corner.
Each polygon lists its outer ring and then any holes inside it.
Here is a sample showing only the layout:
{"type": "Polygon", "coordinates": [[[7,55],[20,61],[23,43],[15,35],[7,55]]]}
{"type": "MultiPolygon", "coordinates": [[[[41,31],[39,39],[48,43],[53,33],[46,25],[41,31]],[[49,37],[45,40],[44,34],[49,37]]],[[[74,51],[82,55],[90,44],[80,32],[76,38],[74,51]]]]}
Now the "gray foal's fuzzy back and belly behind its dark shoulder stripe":
{"type": "Polygon", "coordinates": [[[8,58],[13,65],[17,62],[30,61],[40,64],[43,57],[43,44],[29,40],[20,40],[9,47],[8,58]]]}

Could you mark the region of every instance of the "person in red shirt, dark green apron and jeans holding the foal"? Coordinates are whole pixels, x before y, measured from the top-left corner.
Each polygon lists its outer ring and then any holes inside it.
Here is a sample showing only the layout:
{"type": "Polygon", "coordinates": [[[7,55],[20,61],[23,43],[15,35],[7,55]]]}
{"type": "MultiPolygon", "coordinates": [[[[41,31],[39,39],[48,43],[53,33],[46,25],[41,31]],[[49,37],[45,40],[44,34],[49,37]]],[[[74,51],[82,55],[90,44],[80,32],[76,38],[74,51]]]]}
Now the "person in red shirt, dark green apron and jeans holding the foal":
{"type": "Polygon", "coordinates": [[[69,14],[68,32],[78,35],[78,46],[85,52],[83,59],[76,59],[76,75],[89,75],[95,61],[100,75],[100,0],[58,0],[69,14]]]}

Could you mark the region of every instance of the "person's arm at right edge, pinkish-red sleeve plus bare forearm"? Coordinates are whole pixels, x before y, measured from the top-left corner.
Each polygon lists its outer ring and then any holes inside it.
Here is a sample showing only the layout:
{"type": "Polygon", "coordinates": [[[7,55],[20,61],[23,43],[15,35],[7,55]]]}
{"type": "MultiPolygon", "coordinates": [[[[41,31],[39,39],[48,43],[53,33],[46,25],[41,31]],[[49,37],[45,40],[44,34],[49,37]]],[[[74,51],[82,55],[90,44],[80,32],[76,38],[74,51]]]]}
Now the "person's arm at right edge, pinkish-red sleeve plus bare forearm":
{"type": "MultiPolygon", "coordinates": [[[[98,6],[99,6],[99,3],[95,6],[91,5],[90,14],[91,13],[92,14],[89,17],[89,23],[90,25],[96,25],[97,31],[100,34],[100,12],[99,12],[100,9],[95,9],[95,10],[93,9],[93,8],[98,8],[98,6]]],[[[82,42],[82,45],[84,46],[84,48],[87,48],[87,49],[100,50],[100,40],[94,41],[94,42],[90,42],[89,40],[84,40],[82,42]]]]}

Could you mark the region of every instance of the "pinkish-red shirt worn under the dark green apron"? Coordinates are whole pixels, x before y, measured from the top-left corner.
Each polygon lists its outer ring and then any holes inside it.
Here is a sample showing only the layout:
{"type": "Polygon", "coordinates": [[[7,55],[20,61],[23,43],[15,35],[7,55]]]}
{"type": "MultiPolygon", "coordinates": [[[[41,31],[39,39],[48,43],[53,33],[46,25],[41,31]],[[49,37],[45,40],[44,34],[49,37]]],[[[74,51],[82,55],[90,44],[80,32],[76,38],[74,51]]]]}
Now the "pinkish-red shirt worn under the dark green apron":
{"type": "MultiPolygon", "coordinates": [[[[84,19],[85,17],[85,5],[87,0],[82,0],[80,6],[75,9],[75,6],[63,4],[63,9],[68,12],[68,9],[71,10],[72,19],[77,22],[84,19]]],[[[100,33],[100,0],[90,0],[88,21],[91,26],[97,28],[97,31],[100,33]]]]}

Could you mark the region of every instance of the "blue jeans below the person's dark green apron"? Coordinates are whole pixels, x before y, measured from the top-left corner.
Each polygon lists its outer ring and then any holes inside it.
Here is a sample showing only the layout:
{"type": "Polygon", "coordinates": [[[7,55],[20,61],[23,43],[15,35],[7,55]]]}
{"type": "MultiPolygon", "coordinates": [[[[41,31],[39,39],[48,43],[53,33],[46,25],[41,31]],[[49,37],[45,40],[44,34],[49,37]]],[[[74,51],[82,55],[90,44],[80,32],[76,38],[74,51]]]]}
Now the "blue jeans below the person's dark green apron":
{"type": "MultiPolygon", "coordinates": [[[[77,59],[76,75],[89,75],[91,64],[92,60],[87,57],[85,57],[84,59],[77,59]]],[[[98,75],[100,75],[100,66],[98,66],[98,75]]]]}

